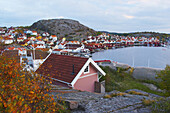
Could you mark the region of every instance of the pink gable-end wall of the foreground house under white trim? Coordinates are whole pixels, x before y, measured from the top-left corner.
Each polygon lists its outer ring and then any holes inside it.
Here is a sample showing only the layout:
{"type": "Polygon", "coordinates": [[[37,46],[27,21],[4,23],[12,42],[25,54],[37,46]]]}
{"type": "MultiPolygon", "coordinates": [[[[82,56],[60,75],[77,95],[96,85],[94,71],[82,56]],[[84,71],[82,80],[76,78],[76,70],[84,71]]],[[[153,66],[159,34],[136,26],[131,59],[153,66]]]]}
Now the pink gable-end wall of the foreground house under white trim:
{"type": "Polygon", "coordinates": [[[82,73],[77,82],[74,84],[74,89],[94,92],[95,81],[98,81],[98,73],[97,70],[90,64],[89,73],[82,73]]]}

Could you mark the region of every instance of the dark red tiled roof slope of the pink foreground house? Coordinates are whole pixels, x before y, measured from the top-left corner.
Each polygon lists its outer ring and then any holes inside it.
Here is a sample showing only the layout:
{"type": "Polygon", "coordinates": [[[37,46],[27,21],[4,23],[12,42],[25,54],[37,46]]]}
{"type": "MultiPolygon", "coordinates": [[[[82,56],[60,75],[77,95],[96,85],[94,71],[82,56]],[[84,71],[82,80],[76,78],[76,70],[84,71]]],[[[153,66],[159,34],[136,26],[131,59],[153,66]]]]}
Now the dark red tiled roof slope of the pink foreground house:
{"type": "Polygon", "coordinates": [[[51,54],[36,72],[71,83],[87,60],[88,58],[51,54]]]}

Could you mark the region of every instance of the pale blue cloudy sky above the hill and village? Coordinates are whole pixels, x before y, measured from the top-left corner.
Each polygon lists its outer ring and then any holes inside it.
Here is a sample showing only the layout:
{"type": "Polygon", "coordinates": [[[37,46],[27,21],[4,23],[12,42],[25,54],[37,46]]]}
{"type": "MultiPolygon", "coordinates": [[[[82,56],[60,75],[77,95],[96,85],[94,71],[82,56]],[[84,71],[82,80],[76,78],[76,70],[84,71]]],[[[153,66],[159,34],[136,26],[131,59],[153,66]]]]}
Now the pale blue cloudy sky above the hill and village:
{"type": "Polygon", "coordinates": [[[97,31],[170,33],[170,0],[0,0],[0,26],[60,18],[97,31]]]}

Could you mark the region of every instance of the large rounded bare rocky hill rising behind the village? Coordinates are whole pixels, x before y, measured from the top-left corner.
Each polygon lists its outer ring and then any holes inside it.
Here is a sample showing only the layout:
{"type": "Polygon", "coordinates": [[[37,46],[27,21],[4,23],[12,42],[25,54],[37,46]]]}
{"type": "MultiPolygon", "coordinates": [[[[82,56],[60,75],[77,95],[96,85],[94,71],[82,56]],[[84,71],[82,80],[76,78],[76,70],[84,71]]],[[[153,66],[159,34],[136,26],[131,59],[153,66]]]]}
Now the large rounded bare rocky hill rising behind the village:
{"type": "Polygon", "coordinates": [[[68,38],[87,38],[88,35],[95,35],[96,31],[87,26],[71,19],[49,19],[39,20],[31,25],[31,30],[36,30],[38,33],[44,31],[50,34],[55,34],[58,37],[68,38]]]}

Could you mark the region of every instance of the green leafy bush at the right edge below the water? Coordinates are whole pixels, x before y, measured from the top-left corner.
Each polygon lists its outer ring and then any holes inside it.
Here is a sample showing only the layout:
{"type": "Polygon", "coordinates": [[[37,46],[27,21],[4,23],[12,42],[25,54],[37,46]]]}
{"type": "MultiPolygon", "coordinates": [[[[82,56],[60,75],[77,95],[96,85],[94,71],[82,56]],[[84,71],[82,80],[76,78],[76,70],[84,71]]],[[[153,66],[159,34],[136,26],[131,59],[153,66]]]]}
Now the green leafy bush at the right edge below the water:
{"type": "Polygon", "coordinates": [[[165,70],[162,70],[158,73],[158,77],[160,78],[160,87],[166,90],[166,95],[170,96],[170,66],[167,65],[165,70]]]}

